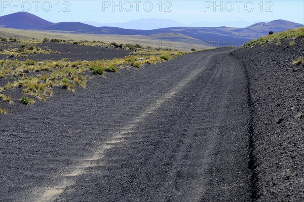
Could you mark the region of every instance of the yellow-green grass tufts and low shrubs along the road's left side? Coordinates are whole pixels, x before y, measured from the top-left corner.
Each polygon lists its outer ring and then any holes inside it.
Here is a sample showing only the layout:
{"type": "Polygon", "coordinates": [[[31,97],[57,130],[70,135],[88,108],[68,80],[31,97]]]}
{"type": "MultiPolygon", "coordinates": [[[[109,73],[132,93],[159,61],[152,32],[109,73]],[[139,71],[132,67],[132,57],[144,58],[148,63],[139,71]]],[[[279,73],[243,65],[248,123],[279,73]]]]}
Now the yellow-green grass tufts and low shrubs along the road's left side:
{"type": "MultiPolygon", "coordinates": [[[[132,46],[137,50],[141,47],[140,45],[130,45],[130,47],[132,46]]],[[[25,45],[19,48],[35,50],[36,46],[25,45]]],[[[141,68],[145,63],[156,64],[186,53],[189,52],[140,50],[124,58],[74,62],[69,58],[58,61],[0,60],[0,79],[8,79],[6,85],[0,86],[0,92],[9,95],[12,89],[18,88],[22,92],[21,103],[33,104],[36,100],[47,100],[53,95],[54,88],[67,89],[71,92],[77,90],[76,87],[86,88],[87,79],[90,78],[86,73],[89,71],[104,75],[105,72],[117,72],[118,68],[129,68],[130,66],[141,68]]],[[[0,99],[12,103],[11,96],[6,97],[1,94],[0,99]]]]}

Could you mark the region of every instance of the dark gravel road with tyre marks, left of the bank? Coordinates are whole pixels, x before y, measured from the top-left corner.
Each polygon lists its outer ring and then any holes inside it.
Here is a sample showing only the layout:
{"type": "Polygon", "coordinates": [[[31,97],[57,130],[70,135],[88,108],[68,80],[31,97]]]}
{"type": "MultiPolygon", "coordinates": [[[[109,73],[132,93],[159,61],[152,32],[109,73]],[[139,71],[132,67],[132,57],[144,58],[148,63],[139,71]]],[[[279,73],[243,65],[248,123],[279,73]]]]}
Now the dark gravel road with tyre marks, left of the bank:
{"type": "Polygon", "coordinates": [[[3,201],[248,201],[248,90],[231,48],[96,77],[1,122],[3,201]]]}

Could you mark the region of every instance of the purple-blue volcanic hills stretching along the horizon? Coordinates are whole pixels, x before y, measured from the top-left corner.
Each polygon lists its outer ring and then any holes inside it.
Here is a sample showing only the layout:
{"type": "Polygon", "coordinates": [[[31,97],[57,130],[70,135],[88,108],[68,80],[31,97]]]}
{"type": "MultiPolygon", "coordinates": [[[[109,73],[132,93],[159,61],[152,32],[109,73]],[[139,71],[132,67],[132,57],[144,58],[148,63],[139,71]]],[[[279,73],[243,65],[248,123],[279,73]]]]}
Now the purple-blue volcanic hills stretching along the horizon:
{"type": "MultiPolygon", "coordinates": [[[[133,23],[136,23],[134,21],[133,23]]],[[[119,34],[119,35],[145,35],[154,38],[167,39],[168,41],[182,41],[182,38],[192,39],[192,43],[203,44],[206,42],[221,42],[244,44],[251,39],[267,35],[269,31],[280,32],[287,29],[294,29],[302,24],[286,21],[274,20],[268,23],[259,22],[245,28],[234,27],[183,27],[174,26],[176,21],[172,21],[169,28],[141,30],[123,29],[111,26],[96,27],[81,22],[48,22],[40,17],[26,12],[13,13],[0,17],[0,26],[15,29],[39,29],[39,30],[59,30],[72,33],[90,34],[119,34]]],[[[149,22],[143,23],[143,27],[148,26],[149,22]]]]}

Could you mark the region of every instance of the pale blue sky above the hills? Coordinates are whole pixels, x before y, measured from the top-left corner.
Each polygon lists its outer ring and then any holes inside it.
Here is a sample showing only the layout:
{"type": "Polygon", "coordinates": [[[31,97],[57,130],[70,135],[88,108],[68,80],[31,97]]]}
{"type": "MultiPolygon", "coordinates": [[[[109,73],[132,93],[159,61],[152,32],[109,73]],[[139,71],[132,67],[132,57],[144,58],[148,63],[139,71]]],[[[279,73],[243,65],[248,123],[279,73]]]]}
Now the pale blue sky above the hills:
{"type": "Polygon", "coordinates": [[[0,1],[0,15],[26,11],[51,22],[171,19],[184,24],[284,19],[304,24],[304,1],[0,1]],[[60,5],[60,6],[59,6],[60,5]]]}

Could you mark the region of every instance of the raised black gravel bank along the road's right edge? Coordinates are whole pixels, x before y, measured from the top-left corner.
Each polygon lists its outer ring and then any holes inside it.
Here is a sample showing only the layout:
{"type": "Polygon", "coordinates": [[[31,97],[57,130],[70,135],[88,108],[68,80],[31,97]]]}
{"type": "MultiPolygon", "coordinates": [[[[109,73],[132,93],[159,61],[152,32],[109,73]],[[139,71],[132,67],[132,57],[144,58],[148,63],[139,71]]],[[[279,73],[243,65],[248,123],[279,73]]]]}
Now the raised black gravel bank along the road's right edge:
{"type": "Polygon", "coordinates": [[[304,63],[301,39],[232,52],[246,69],[251,167],[257,201],[304,201],[304,63]]]}

